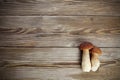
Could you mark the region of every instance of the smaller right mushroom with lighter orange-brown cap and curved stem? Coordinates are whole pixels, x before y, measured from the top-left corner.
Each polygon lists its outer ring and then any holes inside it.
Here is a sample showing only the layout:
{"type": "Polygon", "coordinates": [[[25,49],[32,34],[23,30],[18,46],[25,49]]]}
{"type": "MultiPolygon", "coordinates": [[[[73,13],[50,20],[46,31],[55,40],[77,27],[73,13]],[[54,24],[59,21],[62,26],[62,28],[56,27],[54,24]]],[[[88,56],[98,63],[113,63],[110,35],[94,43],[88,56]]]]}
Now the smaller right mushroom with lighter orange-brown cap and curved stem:
{"type": "Polygon", "coordinates": [[[92,71],[97,71],[100,66],[100,61],[98,59],[99,55],[102,54],[102,51],[98,47],[94,47],[91,50],[91,64],[92,64],[92,71]]]}

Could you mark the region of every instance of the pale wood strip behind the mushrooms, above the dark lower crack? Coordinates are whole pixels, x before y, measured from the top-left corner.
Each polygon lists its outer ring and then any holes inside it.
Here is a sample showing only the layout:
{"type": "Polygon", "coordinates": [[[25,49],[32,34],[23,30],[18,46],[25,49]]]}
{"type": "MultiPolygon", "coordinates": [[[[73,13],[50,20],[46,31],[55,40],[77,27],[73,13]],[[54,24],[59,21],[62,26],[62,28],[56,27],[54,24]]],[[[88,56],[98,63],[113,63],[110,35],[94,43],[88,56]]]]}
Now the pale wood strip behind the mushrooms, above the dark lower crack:
{"type": "MultiPolygon", "coordinates": [[[[10,60],[42,63],[56,62],[78,62],[80,51],[78,48],[0,48],[0,60],[10,60]]],[[[119,48],[102,48],[103,55],[100,56],[102,62],[112,61],[120,58],[119,48]]]]}

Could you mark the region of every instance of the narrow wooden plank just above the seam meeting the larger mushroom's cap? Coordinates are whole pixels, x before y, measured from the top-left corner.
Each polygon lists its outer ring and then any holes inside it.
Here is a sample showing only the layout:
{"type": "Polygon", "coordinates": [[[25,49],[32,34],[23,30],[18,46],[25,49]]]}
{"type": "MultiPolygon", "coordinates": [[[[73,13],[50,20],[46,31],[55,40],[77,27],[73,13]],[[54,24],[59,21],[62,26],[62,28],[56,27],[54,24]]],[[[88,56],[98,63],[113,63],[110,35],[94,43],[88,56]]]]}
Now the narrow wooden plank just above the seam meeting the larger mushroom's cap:
{"type": "MultiPolygon", "coordinates": [[[[33,47],[33,48],[76,48],[82,42],[89,41],[98,47],[120,47],[120,35],[79,35],[60,37],[36,37],[37,35],[4,35],[0,47],[33,47]]],[[[58,35],[59,36],[59,35],[58,35]]]]}

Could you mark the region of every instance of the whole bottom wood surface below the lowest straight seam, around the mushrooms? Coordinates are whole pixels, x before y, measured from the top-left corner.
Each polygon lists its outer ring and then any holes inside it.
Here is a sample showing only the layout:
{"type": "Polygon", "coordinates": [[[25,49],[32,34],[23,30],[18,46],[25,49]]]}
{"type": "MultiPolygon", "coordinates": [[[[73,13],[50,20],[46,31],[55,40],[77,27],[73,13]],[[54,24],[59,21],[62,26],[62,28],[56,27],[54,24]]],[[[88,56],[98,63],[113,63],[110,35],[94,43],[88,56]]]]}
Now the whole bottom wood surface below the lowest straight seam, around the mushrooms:
{"type": "Polygon", "coordinates": [[[1,80],[119,80],[119,48],[102,48],[97,72],[83,73],[78,48],[0,48],[1,80]]]}

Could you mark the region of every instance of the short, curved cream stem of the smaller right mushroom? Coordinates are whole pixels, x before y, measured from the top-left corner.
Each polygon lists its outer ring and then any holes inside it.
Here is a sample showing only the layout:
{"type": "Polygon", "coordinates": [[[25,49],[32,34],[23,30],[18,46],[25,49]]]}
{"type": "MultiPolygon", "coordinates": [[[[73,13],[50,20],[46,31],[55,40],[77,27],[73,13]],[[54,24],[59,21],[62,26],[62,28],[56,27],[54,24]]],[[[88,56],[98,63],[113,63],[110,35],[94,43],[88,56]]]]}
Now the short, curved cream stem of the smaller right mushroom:
{"type": "Polygon", "coordinates": [[[98,59],[98,54],[94,53],[91,57],[92,71],[97,71],[100,66],[100,61],[98,59]]]}

